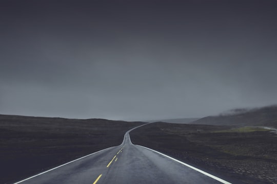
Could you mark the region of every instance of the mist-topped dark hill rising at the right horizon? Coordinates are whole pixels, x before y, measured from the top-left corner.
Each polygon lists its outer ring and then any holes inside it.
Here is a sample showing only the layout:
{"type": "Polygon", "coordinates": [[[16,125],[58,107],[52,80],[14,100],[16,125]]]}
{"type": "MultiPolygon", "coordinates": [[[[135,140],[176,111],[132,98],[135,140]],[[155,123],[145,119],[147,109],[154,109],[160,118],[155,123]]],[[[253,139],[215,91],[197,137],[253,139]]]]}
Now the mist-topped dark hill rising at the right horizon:
{"type": "Polygon", "coordinates": [[[192,122],[206,125],[268,126],[277,128],[277,105],[253,109],[234,109],[220,116],[209,116],[192,122]]]}

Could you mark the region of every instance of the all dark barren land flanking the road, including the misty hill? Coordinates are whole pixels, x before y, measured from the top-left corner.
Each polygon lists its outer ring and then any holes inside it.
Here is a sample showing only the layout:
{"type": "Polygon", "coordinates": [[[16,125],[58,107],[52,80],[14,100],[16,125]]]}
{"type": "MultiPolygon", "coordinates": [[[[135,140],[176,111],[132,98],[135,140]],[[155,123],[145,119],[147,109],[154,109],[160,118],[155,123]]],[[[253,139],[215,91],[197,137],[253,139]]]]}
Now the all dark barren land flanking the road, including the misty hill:
{"type": "MultiPolygon", "coordinates": [[[[0,115],[0,182],[11,183],[118,146],[127,130],[143,124],[0,115]]],[[[130,137],[133,144],[183,160],[232,183],[277,183],[276,128],[276,106],[270,106],[206,117],[191,124],[150,123],[131,131],[130,137]],[[247,122],[247,126],[239,126],[235,120],[247,122]],[[199,124],[206,121],[224,125],[199,124]]]]}

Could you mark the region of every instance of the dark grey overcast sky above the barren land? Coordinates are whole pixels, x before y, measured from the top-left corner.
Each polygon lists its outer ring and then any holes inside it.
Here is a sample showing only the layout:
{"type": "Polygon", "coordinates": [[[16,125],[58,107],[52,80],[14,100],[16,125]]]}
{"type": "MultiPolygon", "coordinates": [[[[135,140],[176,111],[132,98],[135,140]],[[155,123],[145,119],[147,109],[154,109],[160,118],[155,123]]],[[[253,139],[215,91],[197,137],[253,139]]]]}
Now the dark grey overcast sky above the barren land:
{"type": "Polygon", "coordinates": [[[0,0],[0,113],[152,120],[277,103],[277,1],[0,0]]]}

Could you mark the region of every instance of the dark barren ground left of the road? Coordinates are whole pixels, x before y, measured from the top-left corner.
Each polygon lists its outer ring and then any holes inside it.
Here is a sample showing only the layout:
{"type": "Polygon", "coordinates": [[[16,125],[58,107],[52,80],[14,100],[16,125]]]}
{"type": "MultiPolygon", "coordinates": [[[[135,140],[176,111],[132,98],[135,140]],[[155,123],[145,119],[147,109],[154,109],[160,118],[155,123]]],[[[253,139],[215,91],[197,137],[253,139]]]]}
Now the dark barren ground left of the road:
{"type": "Polygon", "coordinates": [[[0,115],[0,183],[11,183],[120,145],[142,122],[0,115]]]}

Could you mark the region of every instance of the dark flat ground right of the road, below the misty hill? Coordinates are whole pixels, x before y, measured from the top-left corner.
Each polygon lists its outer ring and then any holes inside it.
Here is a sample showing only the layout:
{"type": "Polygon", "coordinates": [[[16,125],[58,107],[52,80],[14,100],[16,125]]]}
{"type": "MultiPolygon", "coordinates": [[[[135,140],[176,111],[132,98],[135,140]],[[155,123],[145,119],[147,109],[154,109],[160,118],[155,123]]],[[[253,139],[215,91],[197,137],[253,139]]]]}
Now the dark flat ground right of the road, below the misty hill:
{"type": "Polygon", "coordinates": [[[271,130],[157,122],[131,131],[130,136],[133,144],[229,181],[277,183],[277,134],[271,130]]]}

